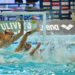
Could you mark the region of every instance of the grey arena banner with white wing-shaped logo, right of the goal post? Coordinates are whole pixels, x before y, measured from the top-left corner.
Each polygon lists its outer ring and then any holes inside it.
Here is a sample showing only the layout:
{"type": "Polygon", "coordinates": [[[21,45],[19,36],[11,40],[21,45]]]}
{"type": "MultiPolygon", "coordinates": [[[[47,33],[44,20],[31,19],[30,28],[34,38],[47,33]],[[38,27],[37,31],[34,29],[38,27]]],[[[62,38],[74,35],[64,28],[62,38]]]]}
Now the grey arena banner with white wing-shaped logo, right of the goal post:
{"type": "Polygon", "coordinates": [[[46,31],[47,35],[75,35],[75,23],[72,20],[47,20],[46,31]]]}

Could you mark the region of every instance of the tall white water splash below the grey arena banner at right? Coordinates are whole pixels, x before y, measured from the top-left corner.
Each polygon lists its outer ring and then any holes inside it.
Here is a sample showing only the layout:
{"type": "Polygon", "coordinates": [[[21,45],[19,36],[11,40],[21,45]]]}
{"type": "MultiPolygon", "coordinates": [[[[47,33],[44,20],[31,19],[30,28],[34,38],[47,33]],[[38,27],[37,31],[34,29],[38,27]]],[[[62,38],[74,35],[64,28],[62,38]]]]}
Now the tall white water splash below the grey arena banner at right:
{"type": "Polygon", "coordinates": [[[50,63],[72,63],[75,62],[74,36],[50,36],[43,58],[50,63]],[[69,37],[69,38],[67,38],[69,37]]]}

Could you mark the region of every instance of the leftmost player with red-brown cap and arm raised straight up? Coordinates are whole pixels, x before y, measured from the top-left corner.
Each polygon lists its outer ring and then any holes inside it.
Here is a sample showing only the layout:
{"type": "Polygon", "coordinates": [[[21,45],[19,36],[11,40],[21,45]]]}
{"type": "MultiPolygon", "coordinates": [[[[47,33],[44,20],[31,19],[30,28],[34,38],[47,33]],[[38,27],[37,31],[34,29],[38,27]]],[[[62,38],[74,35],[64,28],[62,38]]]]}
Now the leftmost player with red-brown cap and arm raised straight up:
{"type": "Polygon", "coordinates": [[[18,34],[14,35],[11,29],[7,29],[4,33],[0,32],[0,47],[8,47],[12,42],[18,40],[24,32],[23,20],[20,20],[21,30],[18,34]]]}

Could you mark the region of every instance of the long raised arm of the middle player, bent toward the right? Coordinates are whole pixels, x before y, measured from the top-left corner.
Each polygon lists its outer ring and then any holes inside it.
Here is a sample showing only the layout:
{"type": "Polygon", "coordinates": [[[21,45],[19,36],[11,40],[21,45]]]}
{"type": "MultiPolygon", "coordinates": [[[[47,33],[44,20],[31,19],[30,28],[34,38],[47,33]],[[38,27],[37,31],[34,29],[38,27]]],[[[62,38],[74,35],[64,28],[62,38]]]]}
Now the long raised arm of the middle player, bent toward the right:
{"type": "Polygon", "coordinates": [[[37,28],[35,28],[34,30],[27,32],[27,33],[23,36],[23,38],[22,38],[22,40],[20,41],[18,47],[16,48],[16,52],[21,51],[21,50],[22,50],[22,47],[24,46],[24,44],[25,44],[25,42],[26,42],[26,40],[27,40],[27,37],[28,37],[29,35],[31,35],[32,33],[37,32],[38,30],[39,30],[39,26],[38,26],[37,28]]]}

